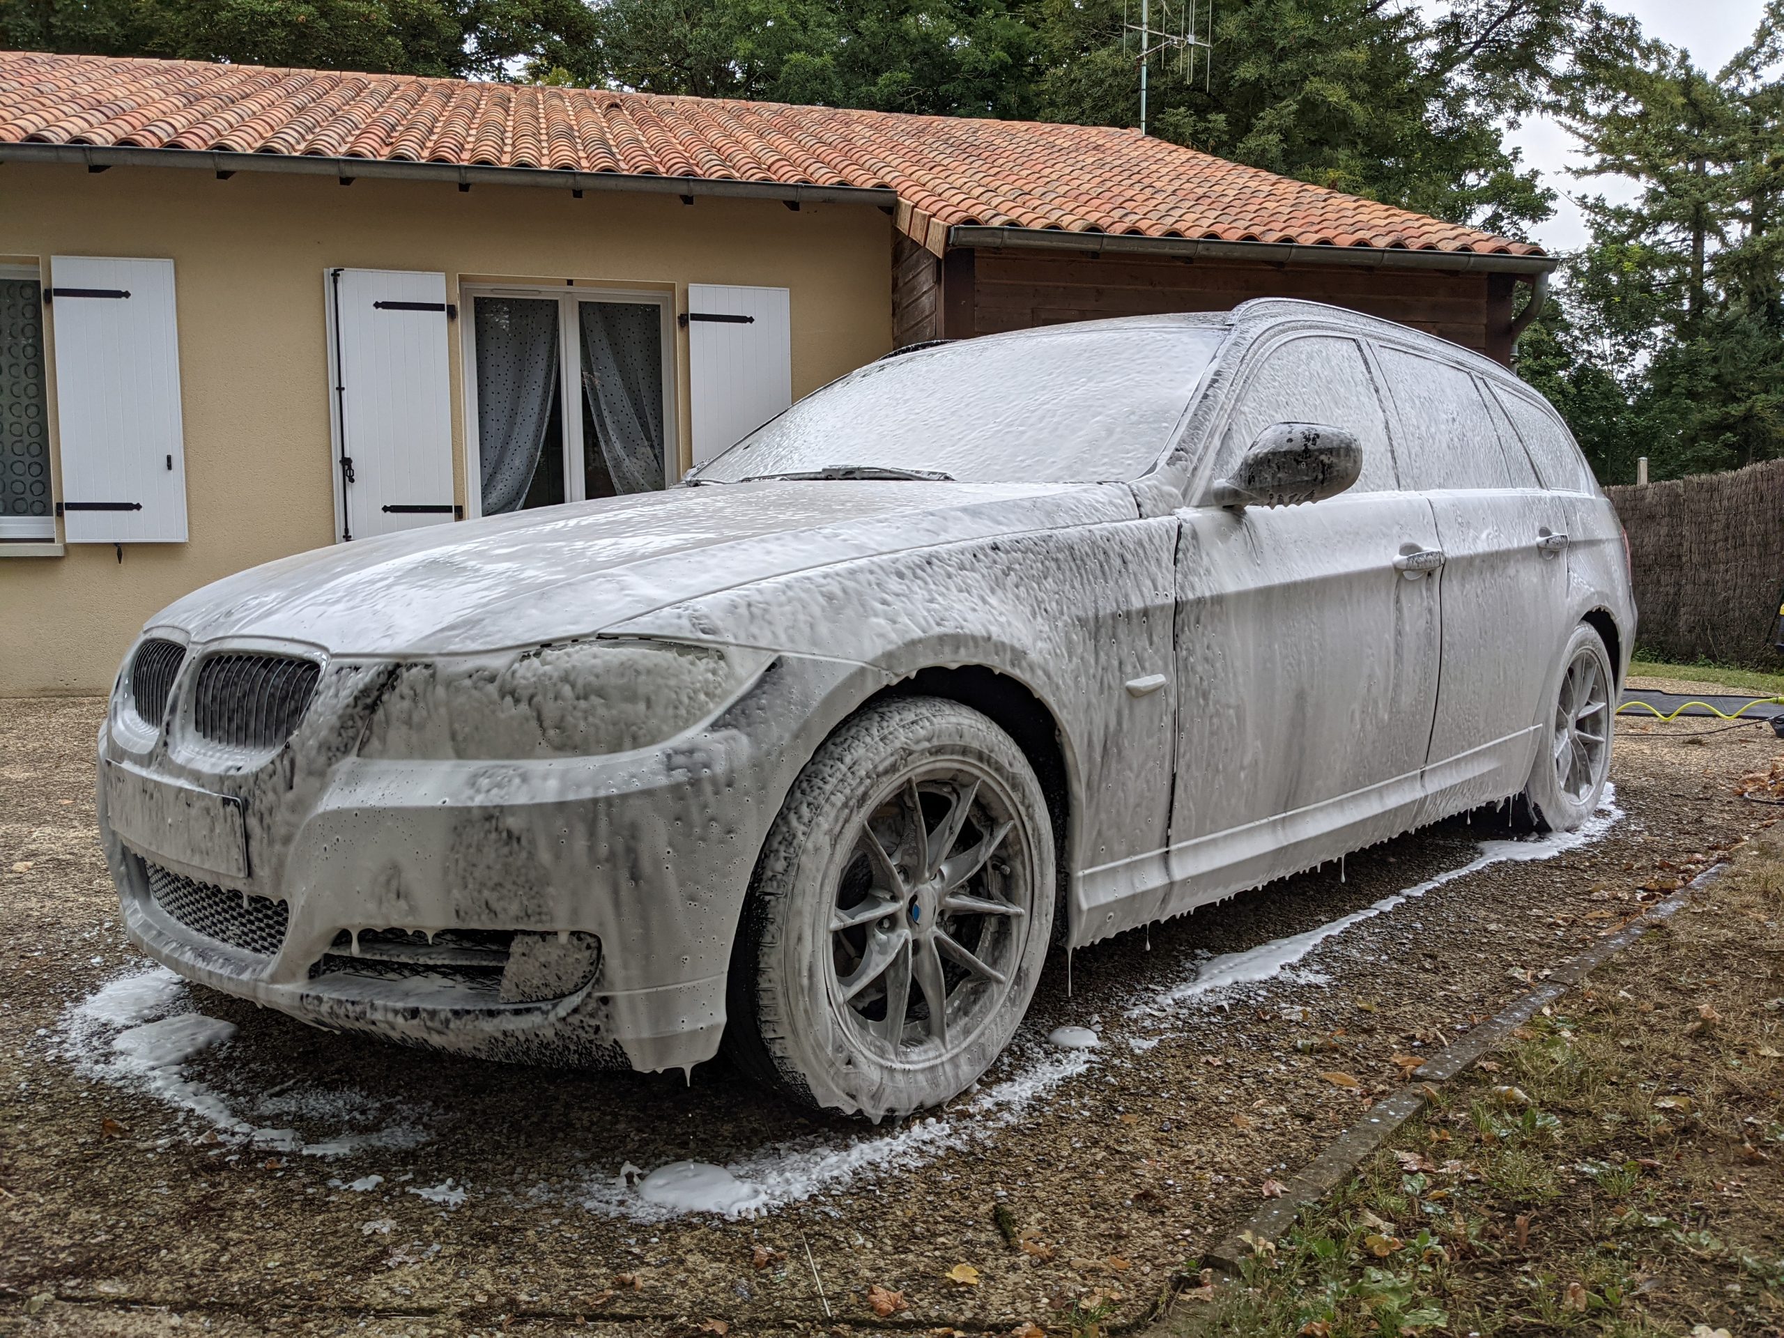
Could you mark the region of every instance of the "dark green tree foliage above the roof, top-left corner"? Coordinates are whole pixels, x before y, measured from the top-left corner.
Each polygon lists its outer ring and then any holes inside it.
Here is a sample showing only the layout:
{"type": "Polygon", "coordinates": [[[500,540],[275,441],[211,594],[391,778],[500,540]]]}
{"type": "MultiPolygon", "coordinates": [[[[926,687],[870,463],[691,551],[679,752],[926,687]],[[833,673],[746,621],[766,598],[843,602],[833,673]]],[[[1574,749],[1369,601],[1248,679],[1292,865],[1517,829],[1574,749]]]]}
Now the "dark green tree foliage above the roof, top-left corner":
{"type": "Polygon", "coordinates": [[[592,27],[580,0],[0,0],[23,50],[482,78],[592,27]]]}

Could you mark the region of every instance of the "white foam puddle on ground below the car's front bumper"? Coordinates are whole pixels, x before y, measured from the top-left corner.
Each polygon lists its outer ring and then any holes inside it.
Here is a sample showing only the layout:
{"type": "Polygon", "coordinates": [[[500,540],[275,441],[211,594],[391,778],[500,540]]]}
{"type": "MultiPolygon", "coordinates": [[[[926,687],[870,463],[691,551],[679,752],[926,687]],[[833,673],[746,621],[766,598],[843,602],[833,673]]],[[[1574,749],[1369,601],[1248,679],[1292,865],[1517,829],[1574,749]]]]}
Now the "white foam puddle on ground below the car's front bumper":
{"type": "Polygon", "coordinates": [[[232,1101],[193,1078],[191,1061],[216,1045],[227,1045],[235,1035],[235,1024],[193,1010],[186,981],[161,965],[109,979],[62,1010],[57,1028],[62,1056],[73,1060],[82,1078],[145,1092],[211,1126],[227,1144],[303,1156],[343,1156],[416,1147],[428,1138],[410,1124],[396,1124],[307,1142],[296,1129],[268,1127],[246,1119],[246,1113],[255,1113],[366,1122],[385,1103],[359,1092],[305,1088],[298,1083],[232,1101]]]}

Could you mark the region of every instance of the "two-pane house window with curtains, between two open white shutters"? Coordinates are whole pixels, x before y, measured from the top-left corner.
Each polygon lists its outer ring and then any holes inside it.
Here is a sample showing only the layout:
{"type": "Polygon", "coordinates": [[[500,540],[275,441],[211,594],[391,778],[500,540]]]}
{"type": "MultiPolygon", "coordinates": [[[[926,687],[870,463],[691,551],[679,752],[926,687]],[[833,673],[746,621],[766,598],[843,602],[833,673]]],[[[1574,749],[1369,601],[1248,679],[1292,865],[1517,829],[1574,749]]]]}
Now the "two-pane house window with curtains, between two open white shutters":
{"type": "Polygon", "coordinates": [[[466,301],[478,514],[671,482],[669,294],[501,287],[466,301]]]}

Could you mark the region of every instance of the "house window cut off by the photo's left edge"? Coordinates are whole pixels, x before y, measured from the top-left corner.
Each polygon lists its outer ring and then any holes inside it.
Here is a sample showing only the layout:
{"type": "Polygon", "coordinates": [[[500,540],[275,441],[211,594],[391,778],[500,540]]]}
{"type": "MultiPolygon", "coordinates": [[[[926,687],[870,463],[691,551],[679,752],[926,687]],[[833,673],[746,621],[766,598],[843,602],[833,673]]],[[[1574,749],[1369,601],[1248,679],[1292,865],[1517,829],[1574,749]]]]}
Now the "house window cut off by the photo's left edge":
{"type": "Polygon", "coordinates": [[[0,542],[55,539],[50,416],[43,375],[43,285],[0,266],[0,542]]]}

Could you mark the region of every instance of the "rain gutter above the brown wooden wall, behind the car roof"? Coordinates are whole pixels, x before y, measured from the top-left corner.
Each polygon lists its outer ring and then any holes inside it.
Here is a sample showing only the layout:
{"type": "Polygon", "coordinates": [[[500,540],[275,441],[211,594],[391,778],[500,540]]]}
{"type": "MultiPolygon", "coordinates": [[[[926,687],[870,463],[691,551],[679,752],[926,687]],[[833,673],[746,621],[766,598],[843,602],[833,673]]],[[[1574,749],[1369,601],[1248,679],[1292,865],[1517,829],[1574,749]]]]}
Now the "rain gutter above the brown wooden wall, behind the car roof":
{"type": "Polygon", "coordinates": [[[1265,264],[1334,264],[1354,269],[1445,269],[1499,275],[1547,275],[1554,255],[1504,255],[1491,252],[1440,252],[1402,246],[1306,246],[1284,241],[1211,241],[1204,237],[1136,237],[1115,232],[1065,232],[1063,228],[995,228],[956,225],[947,244],[967,250],[1013,248],[1072,252],[1078,255],[1135,255],[1172,260],[1260,260],[1265,264]]]}

